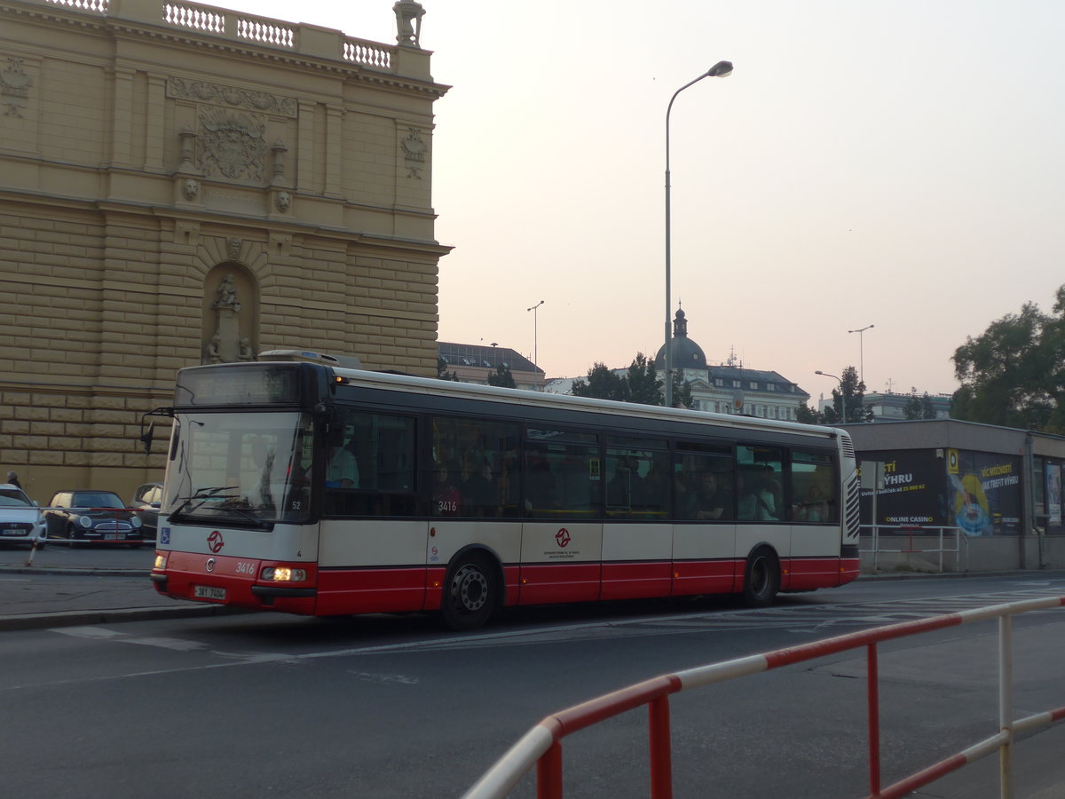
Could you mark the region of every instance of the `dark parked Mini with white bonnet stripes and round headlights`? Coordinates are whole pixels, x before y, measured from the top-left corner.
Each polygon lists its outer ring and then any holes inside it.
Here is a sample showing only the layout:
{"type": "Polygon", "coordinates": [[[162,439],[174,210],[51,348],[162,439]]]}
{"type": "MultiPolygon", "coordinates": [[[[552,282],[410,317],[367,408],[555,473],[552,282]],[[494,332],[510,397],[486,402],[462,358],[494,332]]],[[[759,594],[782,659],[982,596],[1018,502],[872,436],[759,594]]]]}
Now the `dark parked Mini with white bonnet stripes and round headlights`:
{"type": "Polygon", "coordinates": [[[129,543],[144,539],[141,518],[114,491],[56,491],[45,509],[49,538],[129,543]]]}

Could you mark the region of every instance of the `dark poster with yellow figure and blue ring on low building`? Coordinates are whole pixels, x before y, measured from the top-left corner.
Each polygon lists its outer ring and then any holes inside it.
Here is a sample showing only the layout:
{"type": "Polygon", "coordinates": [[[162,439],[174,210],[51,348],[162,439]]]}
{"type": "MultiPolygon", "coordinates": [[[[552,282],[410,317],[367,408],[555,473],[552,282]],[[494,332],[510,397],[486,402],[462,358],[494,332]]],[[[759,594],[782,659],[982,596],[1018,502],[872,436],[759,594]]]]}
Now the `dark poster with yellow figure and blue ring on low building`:
{"type": "Polygon", "coordinates": [[[967,536],[1020,533],[1020,458],[951,450],[949,515],[967,536]]]}

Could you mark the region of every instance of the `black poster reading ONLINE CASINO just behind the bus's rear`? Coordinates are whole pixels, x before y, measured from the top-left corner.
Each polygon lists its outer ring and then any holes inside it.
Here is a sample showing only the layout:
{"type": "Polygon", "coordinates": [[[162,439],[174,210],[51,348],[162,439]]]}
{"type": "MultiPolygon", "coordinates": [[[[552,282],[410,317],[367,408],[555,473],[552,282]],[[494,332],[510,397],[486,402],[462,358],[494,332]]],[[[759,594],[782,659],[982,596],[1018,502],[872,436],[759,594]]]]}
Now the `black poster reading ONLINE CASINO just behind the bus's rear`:
{"type": "Polygon", "coordinates": [[[863,453],[859,467],[863,524],[884,525],[881,535],[908,533],[892,527],[953,526],[944,494],[944,460],[934,452],[863,453]]]}

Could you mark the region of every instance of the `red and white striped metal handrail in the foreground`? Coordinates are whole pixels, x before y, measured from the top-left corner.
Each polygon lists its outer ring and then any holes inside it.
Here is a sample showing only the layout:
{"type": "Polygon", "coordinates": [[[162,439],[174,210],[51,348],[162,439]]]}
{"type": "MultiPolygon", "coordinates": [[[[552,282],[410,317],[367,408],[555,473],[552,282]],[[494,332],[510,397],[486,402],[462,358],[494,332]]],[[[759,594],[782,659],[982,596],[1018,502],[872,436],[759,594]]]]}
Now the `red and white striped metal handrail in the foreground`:
{"type": "Polygon", "coordinates": [[[583,730],[642,705],[646,705],[649,711],[651,796],[653,799],[668,799],[673,794],[669,735],[669,696],[671,694],[750,676],[781,666],[790,666],[859,648],[865,648],[867,652],[870,789],[868,799],[903,797],[922,785],[928,785],[995,751],[1001,751],[1001,796],[1006,799],[1013,795],[1012,763],[1013,743],[1016,734],[1037,730],[1065,719],[1065,706],[1022,719],[1012,718],[1012,617],[1031,610],[1056,607],[1065,607],[1065,597],[1026,600],[944,614],[929,619],[904,621],[652,678],[547,716],[525,733],[497,760],[463,795],[463,799],[499,799],[505,797],[534,766],[537,768],[537,796],[540,799],[561,797],[561,739],[577,730],[583,730]],[[918,633],[996,618],[999,620],[999,731],[904,780],[882,787],[880,776],[880,680],[876,645],[918,633]]]}

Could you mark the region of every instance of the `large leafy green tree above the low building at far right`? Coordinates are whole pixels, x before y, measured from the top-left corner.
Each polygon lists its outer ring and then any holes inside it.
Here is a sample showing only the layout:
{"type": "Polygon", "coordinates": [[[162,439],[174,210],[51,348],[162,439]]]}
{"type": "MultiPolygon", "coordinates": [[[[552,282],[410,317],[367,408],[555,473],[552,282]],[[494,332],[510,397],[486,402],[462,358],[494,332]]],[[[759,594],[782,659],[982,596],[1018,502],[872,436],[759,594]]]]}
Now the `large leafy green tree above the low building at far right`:
{"type": "Polygon", "coordinates": [[[951,399],[954,419],[1065,433],[1065,286],[1052,315],[1026,303],[968,337],[952,360],[962,384],[951,399]]]}

